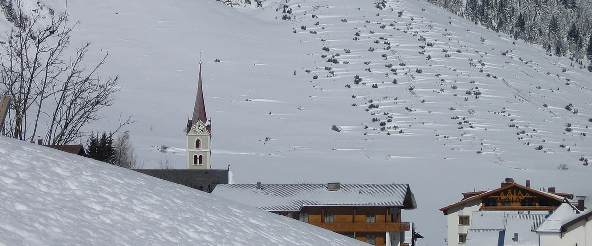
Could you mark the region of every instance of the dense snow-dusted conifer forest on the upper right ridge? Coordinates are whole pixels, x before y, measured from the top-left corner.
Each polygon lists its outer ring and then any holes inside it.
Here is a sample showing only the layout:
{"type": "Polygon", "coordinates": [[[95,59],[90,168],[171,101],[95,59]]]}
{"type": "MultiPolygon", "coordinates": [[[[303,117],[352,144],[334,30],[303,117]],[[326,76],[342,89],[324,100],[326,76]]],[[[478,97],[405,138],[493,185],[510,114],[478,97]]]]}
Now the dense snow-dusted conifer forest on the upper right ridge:
{"type": "Polygon", "coordinates": [[[427,0],[478,25],[539,44],[592,71],[590,0],[427,0]]]}

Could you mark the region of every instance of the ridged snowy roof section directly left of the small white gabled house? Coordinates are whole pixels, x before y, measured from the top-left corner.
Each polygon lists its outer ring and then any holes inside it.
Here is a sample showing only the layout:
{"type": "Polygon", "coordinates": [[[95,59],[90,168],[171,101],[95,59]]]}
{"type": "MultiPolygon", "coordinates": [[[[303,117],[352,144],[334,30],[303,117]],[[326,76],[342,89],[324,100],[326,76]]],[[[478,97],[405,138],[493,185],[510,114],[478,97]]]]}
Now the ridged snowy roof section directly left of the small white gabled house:
{"type": "Polygon", "coordinates": [[[538,246],[539,236],[534,230],[545,221],[545,217],[546,214],[508,214],[504,246],[538,246]]]}

